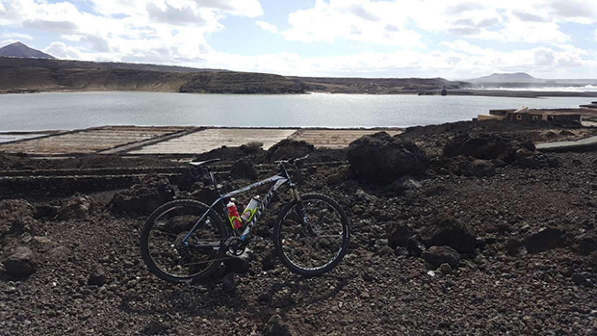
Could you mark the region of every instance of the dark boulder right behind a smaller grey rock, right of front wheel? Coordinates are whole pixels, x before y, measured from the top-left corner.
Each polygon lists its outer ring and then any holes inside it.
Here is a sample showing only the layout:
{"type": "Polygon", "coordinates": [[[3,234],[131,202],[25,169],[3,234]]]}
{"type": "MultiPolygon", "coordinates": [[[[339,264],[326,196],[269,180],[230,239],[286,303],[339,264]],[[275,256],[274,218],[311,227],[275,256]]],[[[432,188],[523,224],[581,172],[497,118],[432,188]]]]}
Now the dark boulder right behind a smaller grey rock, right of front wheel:
{"type": "Polygon", "coordinates": [[[475,252],[475,236],[469,229],[451,217],[441,217],[436,221],[436,228],[424,237],[427,246],[450,246],[460,253],[475,252]]]}

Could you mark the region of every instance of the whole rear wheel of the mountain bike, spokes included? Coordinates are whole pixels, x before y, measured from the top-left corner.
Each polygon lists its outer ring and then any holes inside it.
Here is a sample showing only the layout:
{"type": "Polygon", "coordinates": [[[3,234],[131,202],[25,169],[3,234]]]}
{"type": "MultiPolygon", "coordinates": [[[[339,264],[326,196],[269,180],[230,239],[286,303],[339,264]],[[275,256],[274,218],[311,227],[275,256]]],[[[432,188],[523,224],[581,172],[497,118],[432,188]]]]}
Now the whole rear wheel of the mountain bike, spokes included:
{"type": "Polygon", "coordinates": [[[204,279],[220,265],[229,234],[216,213],[195,200],[174,200],[158,207],[141,231],[141,255],[147,268],[173,283],[204,279]],[[183,243],[195,224],[196,230],[183,243]]]}

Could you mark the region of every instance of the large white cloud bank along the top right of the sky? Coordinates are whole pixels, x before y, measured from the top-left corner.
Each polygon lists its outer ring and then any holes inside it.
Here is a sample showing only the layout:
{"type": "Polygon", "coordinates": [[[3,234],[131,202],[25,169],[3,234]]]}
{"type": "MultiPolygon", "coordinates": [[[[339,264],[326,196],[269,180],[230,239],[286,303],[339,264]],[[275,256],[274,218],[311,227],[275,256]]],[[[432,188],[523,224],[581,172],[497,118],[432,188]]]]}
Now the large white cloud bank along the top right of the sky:
{"type": "Polygon", "coordinates": [[[570,41],[561,23],[595,23],[596,8],[581,0],[316,0],[312,8],[291,13],[291,28],[282,33],[305,42],[348,39],[412,47],[421,43],[418,28],[457,38],[558,44],[570,41]],[[400,33],[388,35],[388,27],[400,33]]]}

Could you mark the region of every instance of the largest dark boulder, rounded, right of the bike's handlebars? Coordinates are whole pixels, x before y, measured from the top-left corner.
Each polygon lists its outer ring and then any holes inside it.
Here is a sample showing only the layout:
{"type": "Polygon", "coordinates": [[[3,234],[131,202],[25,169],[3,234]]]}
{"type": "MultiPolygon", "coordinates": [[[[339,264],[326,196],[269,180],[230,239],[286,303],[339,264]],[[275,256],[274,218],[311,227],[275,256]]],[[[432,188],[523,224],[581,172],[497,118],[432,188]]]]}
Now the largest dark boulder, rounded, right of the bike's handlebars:
{"type": "Polygon", "coordinates": [[[386,132],[365,135],[351,142],[350,166],[366,181],[392,182],[404,175],[424,175],[429,159],[413,142],[386,132]]]}

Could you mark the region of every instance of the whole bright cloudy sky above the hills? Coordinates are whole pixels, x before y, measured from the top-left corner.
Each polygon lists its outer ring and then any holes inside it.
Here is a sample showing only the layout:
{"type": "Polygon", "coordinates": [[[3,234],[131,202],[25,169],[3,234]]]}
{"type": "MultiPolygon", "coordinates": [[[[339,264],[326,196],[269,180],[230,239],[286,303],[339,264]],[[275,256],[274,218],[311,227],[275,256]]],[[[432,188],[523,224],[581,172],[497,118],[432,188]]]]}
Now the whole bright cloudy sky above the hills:
{"type": "Polygon", "coordinates": [[[0,45],[322,77],[597,78],[595,0],[0,0],[0,45]]]}

